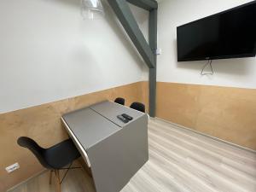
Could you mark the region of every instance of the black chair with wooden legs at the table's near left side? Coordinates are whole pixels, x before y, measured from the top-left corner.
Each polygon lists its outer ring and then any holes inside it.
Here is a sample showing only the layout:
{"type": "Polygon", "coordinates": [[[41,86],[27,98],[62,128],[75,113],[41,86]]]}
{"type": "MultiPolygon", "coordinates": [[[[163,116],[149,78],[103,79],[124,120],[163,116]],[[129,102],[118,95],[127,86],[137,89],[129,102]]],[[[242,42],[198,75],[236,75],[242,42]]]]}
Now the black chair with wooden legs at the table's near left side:
{"type": "Polygon", "coordinates": [[[71,139],[55,144],[50,148],[41,148],[38,143],[29,137],[18,138],[17,143],[24,148],[28,148],[38,158],[39,162],[46,169],[50,170],[49,184],[51,183],[52,172],[55,172],[56,191],[61,192],[61,183],[70,169],[81,167],[72,167],[73,160],[80,157],[78,149],[71,139]],[[68,166],[65,168],[65,166],[68,166]],[[67,170],[64,177],[60,179],[60,170],[67,170]]]}

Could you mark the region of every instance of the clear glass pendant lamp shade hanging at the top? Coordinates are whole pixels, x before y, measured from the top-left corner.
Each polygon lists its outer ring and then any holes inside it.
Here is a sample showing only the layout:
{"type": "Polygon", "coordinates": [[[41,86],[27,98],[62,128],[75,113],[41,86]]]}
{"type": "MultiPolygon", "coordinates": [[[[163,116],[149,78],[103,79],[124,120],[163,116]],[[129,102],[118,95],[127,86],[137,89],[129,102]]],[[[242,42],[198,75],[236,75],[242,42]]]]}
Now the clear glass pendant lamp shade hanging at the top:
{"type": "Polygon", "coordinates": [[[101,19],[105,15],[101,0],[81,1],[81,15],[85,20],[101,19]]]}

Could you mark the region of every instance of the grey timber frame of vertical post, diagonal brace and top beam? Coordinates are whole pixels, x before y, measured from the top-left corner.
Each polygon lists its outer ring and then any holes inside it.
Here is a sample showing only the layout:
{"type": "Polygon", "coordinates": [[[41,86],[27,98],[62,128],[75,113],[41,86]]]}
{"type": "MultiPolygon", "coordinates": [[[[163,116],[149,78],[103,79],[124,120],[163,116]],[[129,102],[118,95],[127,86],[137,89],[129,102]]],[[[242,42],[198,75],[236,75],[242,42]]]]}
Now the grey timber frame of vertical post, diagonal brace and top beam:
{"type": "Polygon", "coordinates": [[[156,55],[157,49],[157,8],[155,0],[108,0],[115,15],[119,18],[125,31],[131,38],[149,68],[149,115],[155,117],[156,108],[156,55]],[[149,44],[143,36],[137,21],[131,13],[128,3],[149,11],[148,35],[149,44]]]}

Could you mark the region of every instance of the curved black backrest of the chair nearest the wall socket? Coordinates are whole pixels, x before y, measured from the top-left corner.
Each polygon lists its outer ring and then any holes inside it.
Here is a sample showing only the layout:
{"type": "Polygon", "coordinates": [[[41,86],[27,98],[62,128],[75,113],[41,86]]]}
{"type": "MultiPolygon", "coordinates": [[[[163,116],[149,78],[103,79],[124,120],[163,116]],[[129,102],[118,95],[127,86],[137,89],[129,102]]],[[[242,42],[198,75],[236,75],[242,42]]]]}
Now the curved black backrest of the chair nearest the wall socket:
{"type": "Polygon", "coordinates": [[[32,140],[32,138],[19,137],[17,140],[17,143],[23,148],[28,148],[32,152],[32,154],[34,154],[38,158],[38,160],[42,166],[44,166],[47,169],[52,168],[51,166],[49,166],[49,164],[44,159],[45,148],[41,148],[38,145],[38,143],[36,143],[34,140],[32,140]]]}

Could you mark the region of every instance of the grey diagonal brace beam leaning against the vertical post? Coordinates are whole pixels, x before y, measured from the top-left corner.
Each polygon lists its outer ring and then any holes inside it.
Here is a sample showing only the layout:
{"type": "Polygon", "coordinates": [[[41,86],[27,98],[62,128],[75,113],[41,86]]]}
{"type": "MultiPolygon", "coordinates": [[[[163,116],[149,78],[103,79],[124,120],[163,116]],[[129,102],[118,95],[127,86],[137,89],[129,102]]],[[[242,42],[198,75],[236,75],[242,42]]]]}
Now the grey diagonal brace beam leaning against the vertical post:
{"type": "Polygon", "coordinates": [[[143,60],[146,62],[149,68],[154,68],[154,52],[149,47],[146,39],[143,36],[143,32],[141,32],[139,26],[137,25],[137,21],[132,15],[131,9],[126,0],[108,0],[108,3],[119,18],[122,26],[124,26],[125,31],[131,38],[133,44],[136,46],[138,52],[143,56],[143,60]]]}

